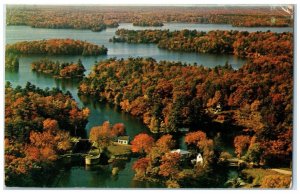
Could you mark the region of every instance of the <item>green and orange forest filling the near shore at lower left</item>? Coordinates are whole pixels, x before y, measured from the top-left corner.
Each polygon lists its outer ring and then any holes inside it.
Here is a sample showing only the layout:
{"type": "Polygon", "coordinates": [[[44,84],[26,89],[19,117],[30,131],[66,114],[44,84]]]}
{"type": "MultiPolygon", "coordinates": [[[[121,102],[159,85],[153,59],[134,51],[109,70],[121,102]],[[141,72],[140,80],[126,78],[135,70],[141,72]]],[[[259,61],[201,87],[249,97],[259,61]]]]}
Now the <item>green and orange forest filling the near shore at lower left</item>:
{"type": "Polygon", "coordinates": [[[70,136],[84,135],[89,109],[69,93],[5,86],[6,186],[42,186],[58,170],[59,155],[71,148],[70,136]]]}

